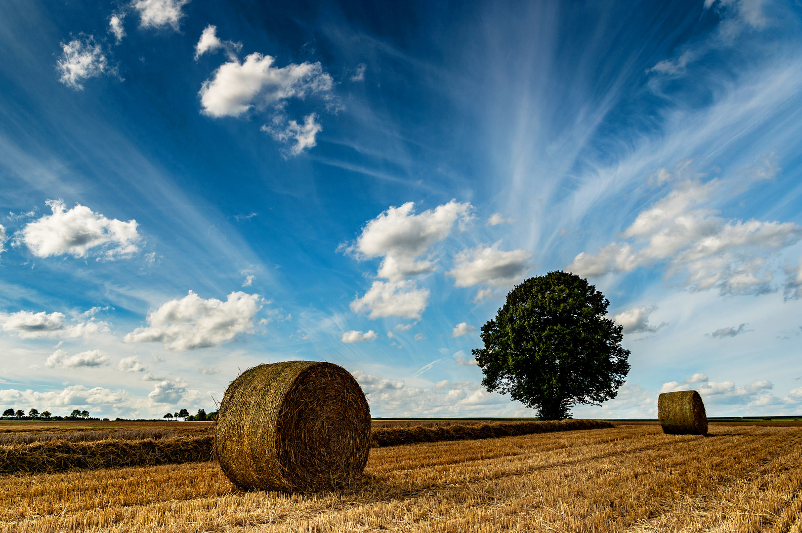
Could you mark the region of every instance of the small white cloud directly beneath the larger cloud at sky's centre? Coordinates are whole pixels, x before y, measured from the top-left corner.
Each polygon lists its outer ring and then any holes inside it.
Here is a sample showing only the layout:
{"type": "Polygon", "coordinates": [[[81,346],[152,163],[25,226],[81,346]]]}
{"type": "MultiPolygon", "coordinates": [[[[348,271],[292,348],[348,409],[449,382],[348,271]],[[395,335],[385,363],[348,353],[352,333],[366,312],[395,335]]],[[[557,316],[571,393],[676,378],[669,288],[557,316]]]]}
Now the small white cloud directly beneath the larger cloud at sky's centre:
{"type": "Polygon", "coordinates": [[[368,318],[420,318],[429,302],[429,289],[420,289],[415,281],[374,281],[365,296],[350,303],[354,313],[368,313],[368,318]]]}

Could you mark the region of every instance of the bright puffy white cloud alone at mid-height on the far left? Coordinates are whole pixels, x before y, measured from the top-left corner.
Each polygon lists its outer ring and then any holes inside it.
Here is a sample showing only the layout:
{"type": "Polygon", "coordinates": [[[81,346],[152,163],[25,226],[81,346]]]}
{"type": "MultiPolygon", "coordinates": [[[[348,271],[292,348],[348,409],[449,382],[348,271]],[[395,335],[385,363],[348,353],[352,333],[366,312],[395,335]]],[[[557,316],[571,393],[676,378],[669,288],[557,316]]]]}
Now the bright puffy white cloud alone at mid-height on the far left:
{"type": "Polygon", "coordinates": [[[136,220],[107,219],[81,204],[67,210],[62,200],[47,200],[47,205],[53,214],[29,222],[17,235],[34,256],[86,257],[99,248],[105,259],[113,260],[139,251],[136,220]]]}

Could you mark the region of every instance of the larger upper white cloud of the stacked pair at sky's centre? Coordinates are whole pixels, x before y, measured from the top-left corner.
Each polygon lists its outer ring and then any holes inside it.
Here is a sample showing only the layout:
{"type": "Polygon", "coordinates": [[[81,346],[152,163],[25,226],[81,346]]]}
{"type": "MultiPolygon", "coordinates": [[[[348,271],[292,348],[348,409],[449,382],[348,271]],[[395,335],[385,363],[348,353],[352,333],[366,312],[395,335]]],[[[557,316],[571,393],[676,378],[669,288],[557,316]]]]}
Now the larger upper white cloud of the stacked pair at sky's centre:
{"type": "Polygon", "coordinates": [[[448,204],[415,215],[415,203],[391,207],[371,220],[347,251],[359,258],[384,257],[379,277],[390,281],[432,272],[433,260],[417,260],[435,243],[448,237],[454,224],[470,220],[472,205],[451,200],[448,204]]]}

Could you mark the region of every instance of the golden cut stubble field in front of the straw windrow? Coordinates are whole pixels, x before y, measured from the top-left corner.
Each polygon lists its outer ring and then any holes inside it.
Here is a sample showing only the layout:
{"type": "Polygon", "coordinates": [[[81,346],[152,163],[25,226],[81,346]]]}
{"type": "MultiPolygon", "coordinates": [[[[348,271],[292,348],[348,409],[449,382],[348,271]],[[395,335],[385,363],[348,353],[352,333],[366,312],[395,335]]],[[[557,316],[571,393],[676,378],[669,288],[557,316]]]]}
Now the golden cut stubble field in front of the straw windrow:
{"type": "Polygon", "coordinates": [[[0,477],[0,531],[802,531],[802,426],[657,424],[371,450],[350,491],[214,462],[0,477]]]}

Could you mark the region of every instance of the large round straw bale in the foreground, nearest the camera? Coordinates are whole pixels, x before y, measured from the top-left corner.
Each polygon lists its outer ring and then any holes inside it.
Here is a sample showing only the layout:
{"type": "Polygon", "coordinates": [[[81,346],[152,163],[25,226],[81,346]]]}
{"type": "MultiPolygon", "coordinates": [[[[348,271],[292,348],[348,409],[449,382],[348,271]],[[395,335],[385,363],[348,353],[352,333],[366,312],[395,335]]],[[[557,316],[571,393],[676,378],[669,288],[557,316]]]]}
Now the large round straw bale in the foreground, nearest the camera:
{"type": "Polygon", "coordinates": [[[342,366],[287,361],[258,365],[231,382],[220,404],[215,451],[238,487],[320,491],[362,474],[371,410],[342,366]]]}

